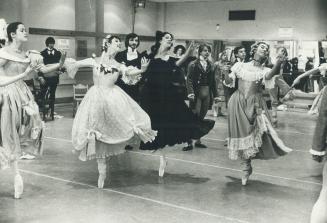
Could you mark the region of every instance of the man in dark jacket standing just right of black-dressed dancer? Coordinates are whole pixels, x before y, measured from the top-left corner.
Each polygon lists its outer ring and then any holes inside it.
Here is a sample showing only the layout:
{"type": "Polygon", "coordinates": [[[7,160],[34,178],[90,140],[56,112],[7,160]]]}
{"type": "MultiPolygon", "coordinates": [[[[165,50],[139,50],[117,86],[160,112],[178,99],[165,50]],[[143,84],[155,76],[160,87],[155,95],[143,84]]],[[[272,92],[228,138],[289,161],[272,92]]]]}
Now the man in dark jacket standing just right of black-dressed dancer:
{"type": "MultiPolygon", "coordinates": [[[[201,44],[198,50],[198,59],[189,64],[187,71],[186,87],[190,107],[201,119],[206,116],[212,99],[218,100],[215,81],[217,67],[209,60],[210,53],[210,46],[201,44]]],[[[194,145],[198,148],[207,147],[201,143],[201,139],[197,139],[194,145]]],[[[193,149],[193,145],[192,142],[189,142],[188,146],[183,148],[183,151],[191,149],[193,149]]]]}

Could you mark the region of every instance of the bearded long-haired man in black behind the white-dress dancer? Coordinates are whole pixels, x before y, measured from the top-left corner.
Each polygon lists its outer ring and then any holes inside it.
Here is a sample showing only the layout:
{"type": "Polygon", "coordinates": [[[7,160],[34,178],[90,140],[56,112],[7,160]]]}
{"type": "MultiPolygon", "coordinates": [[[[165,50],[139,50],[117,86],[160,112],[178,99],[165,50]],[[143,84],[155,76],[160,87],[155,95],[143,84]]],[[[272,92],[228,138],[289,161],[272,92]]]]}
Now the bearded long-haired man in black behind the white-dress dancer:
{"type": "MultiPolygon", "coordinates": [[[[122,52],[117,53],[115,59],[117,62],[128,66],[141,68],[141,58],[143,53],[139,53],[137,48],[140,45],[139,36],[135,33],[127,34],[125,38],[126,49],[122,52]]],[[[139,76],[138,80],[141,78],[139,76]]],[[[134,82],[129,82],[120,77],[116,84],[122,88],[131,98],[136,102],[139,102],[139,81],[137,79],[134,82]]]]}

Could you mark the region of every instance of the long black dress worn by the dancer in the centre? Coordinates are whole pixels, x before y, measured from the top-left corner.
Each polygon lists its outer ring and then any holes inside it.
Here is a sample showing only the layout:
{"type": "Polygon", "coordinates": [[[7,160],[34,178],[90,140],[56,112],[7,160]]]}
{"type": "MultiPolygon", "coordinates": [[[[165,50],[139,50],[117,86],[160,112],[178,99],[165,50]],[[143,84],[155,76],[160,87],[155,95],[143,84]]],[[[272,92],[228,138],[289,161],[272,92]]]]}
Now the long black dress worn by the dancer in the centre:
{"type": "Polygon", "coordinates": [[[158,131],[151,143],[140,149],[156,150],[166,145],[188,142],[206,135],[214,126],[213,120],[201,120],[186,105],[180,94],[176,58],[152,59],[145,75],[141,107],[151,118],[152,129],[158,131]]]}

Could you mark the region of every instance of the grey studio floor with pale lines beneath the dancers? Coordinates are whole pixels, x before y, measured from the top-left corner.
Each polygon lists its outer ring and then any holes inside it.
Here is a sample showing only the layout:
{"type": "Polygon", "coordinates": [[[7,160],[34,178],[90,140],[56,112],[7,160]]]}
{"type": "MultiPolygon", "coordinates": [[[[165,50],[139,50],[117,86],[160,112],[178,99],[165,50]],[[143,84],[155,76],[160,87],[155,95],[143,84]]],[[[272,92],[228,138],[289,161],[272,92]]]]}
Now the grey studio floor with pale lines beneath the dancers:
{"type": "Polygon", "coordinates": [[[322,166],[308,153],[315,117],[303,113],[279,113],[278,133],[294,152],[254,161],[246,187],[239,163],[227,159],[226,117],[219,117],[203,139],[207,149],[166,150],[164,178],[157,153],[134,149],[110,160],[100,190],[96,162],[71,152],[71,108],[56,111],[64,118],[47,122],[44,156],[20,162],[22,199],[12,198],[12,172],[0,172],[0,222],[305,223],[321,187],[322,166]]]}

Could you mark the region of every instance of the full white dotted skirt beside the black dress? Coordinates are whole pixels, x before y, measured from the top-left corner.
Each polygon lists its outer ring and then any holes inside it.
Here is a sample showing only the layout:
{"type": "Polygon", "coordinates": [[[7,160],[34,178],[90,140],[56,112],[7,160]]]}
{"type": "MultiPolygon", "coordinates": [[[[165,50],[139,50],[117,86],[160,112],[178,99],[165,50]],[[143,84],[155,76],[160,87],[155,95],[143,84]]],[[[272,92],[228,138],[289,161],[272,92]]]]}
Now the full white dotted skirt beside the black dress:
{"type": "Polygon", "coordinates": [[[149,116],[118,86],[93,86],[82,100],[72,129],[80,160],[121,154],[126,145],[154,140],[149,116]]]}

